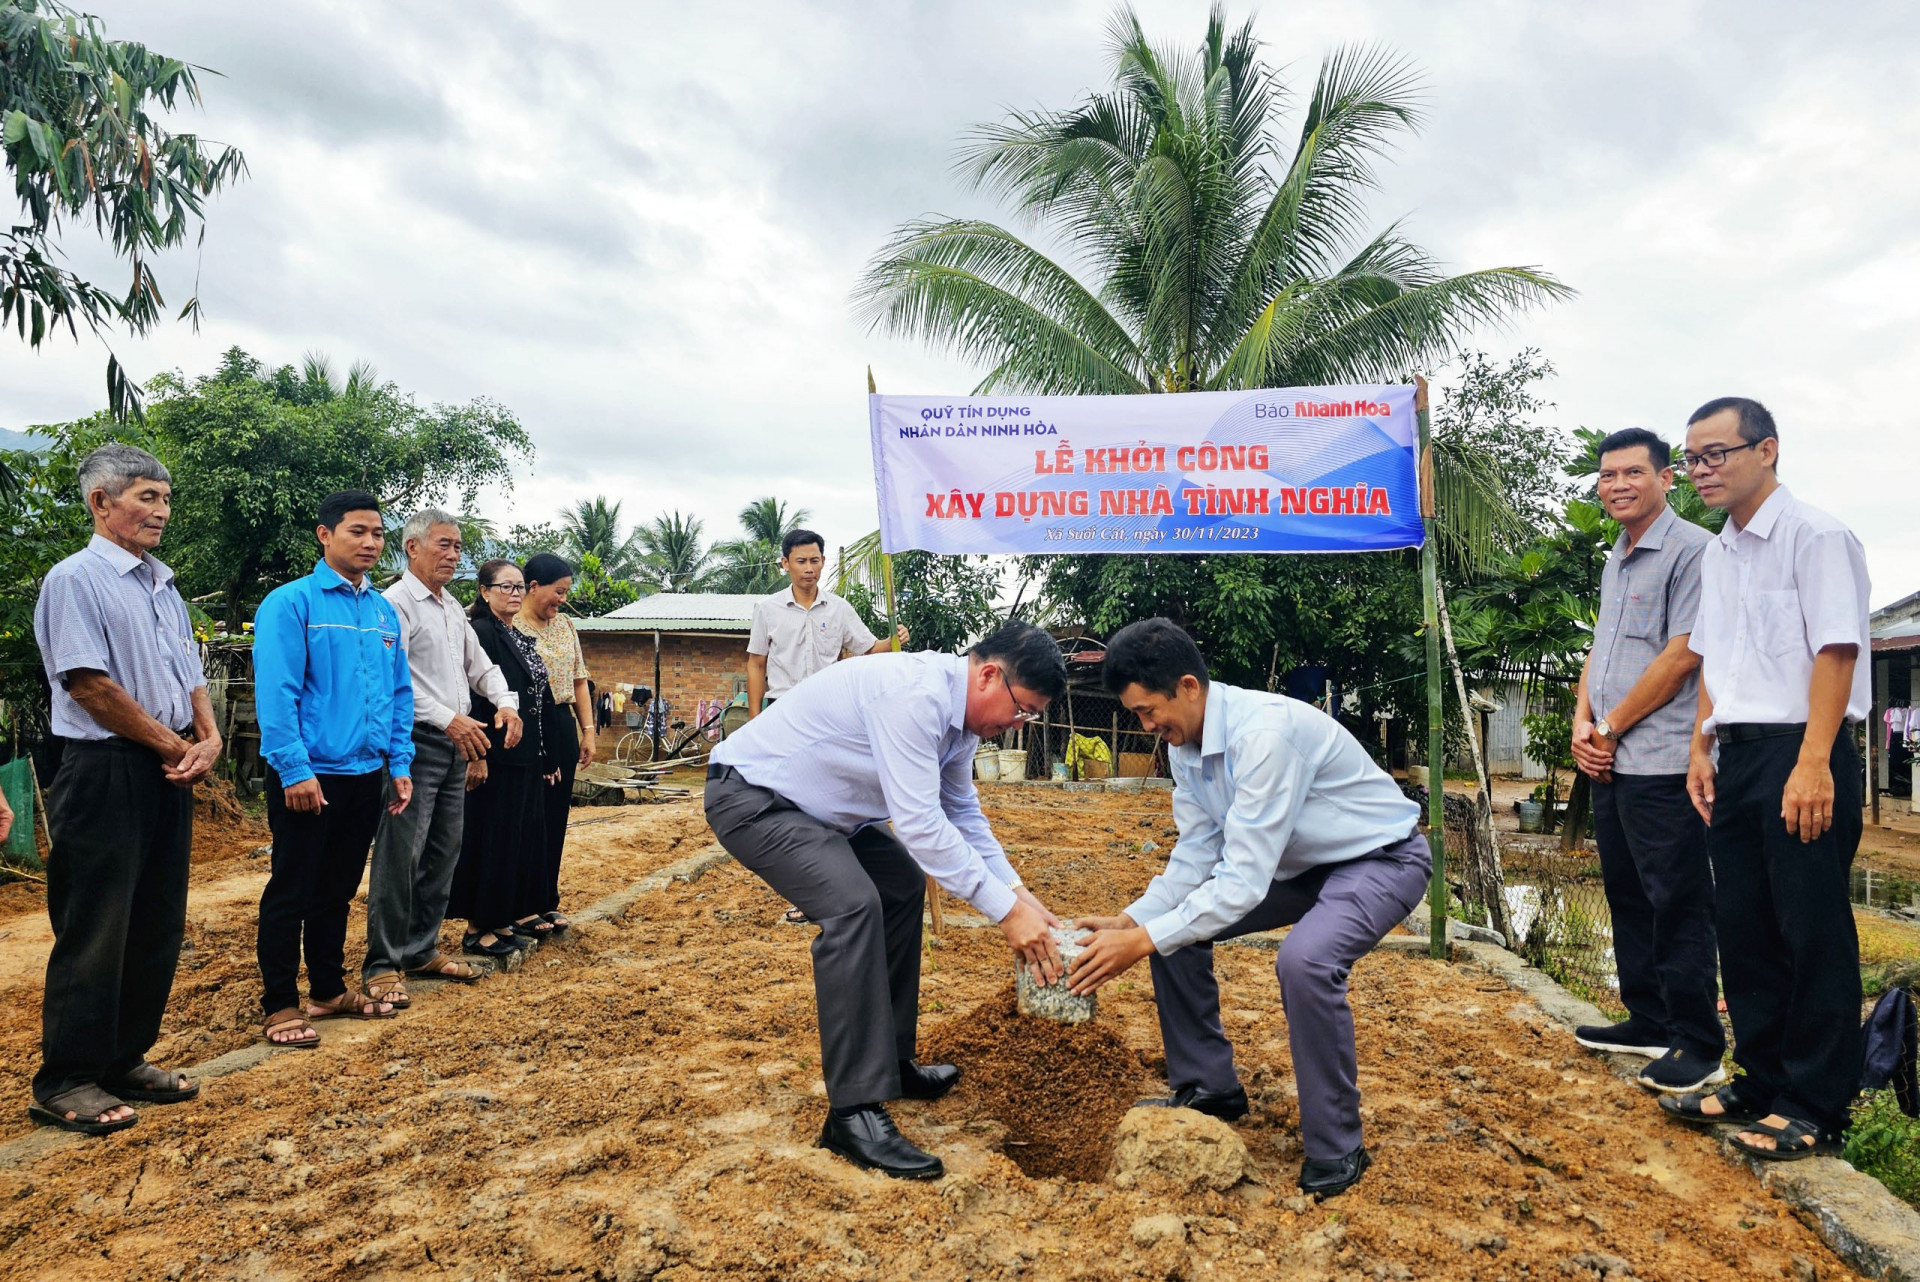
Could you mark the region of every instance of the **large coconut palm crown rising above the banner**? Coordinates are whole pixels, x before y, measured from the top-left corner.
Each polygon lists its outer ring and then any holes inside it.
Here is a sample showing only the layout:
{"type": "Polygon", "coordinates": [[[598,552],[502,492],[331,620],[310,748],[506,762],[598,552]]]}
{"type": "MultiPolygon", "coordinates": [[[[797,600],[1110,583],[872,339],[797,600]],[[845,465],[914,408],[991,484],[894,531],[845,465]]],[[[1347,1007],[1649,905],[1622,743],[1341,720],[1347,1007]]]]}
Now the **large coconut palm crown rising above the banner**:
{"type": "Polygon", "coordinates": [[[1478,324],[1567,297],[1536,267],[1444,274],[1398,226],[1361,234],[1375,161],[1419,125],[1419,79],[1331,54],[1283,154],[1279,75],[1213,8],[1194,52],[1110,29],[1114,86],[973,132],[960,173],[1083,269],[975,219],[904,223],[868,267],[870,328],[987,367],[975,393],[1384,382],[1478,324]]]}

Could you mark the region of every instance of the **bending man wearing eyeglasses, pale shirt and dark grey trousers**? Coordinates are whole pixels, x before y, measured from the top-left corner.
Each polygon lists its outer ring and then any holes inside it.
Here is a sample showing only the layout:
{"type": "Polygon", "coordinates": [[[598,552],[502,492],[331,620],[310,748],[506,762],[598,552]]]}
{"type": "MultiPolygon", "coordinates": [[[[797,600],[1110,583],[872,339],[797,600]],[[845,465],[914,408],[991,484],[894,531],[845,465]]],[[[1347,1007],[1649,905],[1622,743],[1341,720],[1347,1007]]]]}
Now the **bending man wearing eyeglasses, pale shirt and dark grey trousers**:
{"type": "Polygon", "coordinates": [[[720,844],[820,927],[814,996],[828,1121],[820,1146],[933,1180],[887,1100],[937,1100],[952,1065],[914,1063],[925,883],[1000,925],[1016,958],[1060,975],[1060,925],[995,841],[973,750],[1066,691],[1060,647],[1010,622],[966,654],[876,654],[801,681],[712,750],[707,821],[720,844]],[[891,819],[893,831],[887,831],[891,819]]]}

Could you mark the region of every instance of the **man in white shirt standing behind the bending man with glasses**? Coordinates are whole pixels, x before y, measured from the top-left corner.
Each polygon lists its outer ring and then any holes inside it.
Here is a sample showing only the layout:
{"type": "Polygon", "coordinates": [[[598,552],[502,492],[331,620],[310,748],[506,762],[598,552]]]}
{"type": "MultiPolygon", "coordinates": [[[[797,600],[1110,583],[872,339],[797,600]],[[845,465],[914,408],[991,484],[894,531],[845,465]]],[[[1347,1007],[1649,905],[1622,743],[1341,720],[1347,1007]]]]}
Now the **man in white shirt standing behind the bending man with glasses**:
{"type": "MultiPolygon", "coordinates": [[[[789,530],[780,541],[780,568],[793,582],[753,606],[747,716],[760,716],[762,700],[781,699],[843,656],[895,649],[891,641],[874,637],[845,597],[820,587],[826,566],[826,541],[812,530],[789,530]]],[[[899,649],[906,649],[906,628],[900,628],[899,649]]]]}

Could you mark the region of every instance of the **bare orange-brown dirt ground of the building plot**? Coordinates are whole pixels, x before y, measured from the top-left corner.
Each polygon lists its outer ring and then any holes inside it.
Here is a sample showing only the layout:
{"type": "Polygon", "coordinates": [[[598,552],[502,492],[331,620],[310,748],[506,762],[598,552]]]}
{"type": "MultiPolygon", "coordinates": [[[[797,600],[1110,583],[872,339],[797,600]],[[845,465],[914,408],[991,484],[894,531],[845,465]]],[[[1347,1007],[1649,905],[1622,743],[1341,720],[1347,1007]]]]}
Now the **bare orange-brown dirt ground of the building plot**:
{"type": "MultiPolygon", "coordinates": [[[[1062,914],[1108,912],[1171,844],[1164,793],[989,785],[989,814],[1062,914]],[[1154,844],[1158,848],[1148,848],[1154,844]]],[[[580,810],[566,908],[703,848],[697,802],[580,810]]],[[[156,1059],[253,1038],[259,860],[196,866],[194,954],[156,1059]]],[[[1227,1194],[1033,1178],[1031,1119],[993,1090],[1021,1033],[993,929],[948,902],[925,950],[924,1048],[962,1080],[895,1105],[948,1176],[900,1184],[812,1148],[824,1113],[812,931],[724,864],[541,948],[524,969],[422,994],[399,1019],[321,1025],[317,1052],[148,1107],[106,1140],[0,1169],[0,1255],[21,1278],[1596,1278],[1849,1276],[1705,1136],[1659,1119],[1492,975],[1394,954],[1352,975],[1377,1165],[1336,1201],[1294,1198],[1300,1163],[1273,954],[1217,952],[1254,1115],[1258,1180],[1227,1194]],[[998,1011],[998,1013],[996,1013],[998,1011]],[[1000,1025],[993,1025],[1000,1019],[1000,1025]],[[970,1063],[970,1057],[972,1063],[970,1063]],[[991,1063],[989,1063],[991,1061],[991,1063]],[[1177,1217],[1177,1232],[1139,1230],[1177,1217]],[[1620,1276],[1615,1272],[1613,1276],[1620,1276]],[[1799,1276],[1809,1276],[1801,1272],[1799,1276]]],[[[359,937],[359,925],[349,938],[359,937]]],[[[0,1084],[25,1105],[44,914],[0,919],[0,1084]]],[[[1044,1063],[1098,1046],[1102,1086],[1050,1090],[1048,1138],[1104,1169],[1116,1092],[1164,1088],[1144,969],[1100,994],[1098,1042],[1033,1036],[1044,1063]],[[1066,1050],[1062,1050],[1066,1048],[1066,1050]],[[1069,1119],[1075,1125],[1058,1125],[1069,1119]]],[[[1014,1056],[1018,1059],[1018,1054],[1014,1056]]],[[[0,1140],[25,1130],[0,1113],[0,1140]]]]}

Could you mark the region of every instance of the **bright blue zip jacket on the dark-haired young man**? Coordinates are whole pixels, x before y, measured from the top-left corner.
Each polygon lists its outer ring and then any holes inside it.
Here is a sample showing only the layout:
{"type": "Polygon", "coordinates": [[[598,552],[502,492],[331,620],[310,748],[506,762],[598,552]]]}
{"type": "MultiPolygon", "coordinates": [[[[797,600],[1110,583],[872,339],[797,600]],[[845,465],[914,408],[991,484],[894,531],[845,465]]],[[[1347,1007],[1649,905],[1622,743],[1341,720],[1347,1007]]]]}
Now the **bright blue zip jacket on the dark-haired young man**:
{"type": "Polygon", "coordinates": [[[413,770],[413,677],[399,614],[324,560],[253,614],[259,754],[282,787],[313,775],[413,770]]]}

